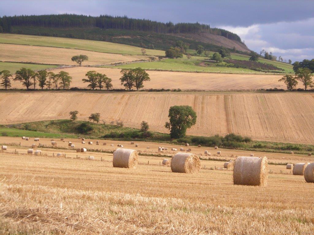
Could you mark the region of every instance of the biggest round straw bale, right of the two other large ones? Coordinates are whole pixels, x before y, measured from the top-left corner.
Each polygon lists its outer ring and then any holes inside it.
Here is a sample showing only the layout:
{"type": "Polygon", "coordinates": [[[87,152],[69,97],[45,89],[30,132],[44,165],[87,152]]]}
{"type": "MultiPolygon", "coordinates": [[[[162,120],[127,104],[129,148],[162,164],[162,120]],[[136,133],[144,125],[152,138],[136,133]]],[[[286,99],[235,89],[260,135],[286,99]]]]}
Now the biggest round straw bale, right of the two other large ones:
{"type": "Polygon", "coordinates": [[[237,157],[233,170],[235,185],[266,186],[268,165],[266,157],[237,157]]]}

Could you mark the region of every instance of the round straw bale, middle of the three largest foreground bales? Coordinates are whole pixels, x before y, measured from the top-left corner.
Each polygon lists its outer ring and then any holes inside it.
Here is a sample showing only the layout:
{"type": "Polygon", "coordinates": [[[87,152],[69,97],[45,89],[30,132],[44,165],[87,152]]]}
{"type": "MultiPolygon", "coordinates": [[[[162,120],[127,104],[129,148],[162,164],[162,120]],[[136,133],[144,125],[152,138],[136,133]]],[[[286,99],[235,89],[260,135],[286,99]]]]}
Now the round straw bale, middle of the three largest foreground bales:
{"type": "Polygon", "coordinates": [[[179,173],[198,173],[201,161],[195,154],[177,153],[171,159],[172,172],[179,173]]]}

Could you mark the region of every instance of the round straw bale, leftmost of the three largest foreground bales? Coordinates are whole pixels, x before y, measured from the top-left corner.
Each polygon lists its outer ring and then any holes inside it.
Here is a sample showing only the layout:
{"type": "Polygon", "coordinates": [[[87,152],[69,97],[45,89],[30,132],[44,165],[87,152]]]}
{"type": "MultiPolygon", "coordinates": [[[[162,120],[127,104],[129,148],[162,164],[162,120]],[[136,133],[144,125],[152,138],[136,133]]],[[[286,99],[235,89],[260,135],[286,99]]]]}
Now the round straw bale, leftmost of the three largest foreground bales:
{"type": "Polygon", "coordinates": [[[133,168],[138,164],[138,154],[133,149],[116,149],[113,152],[113,167],[133,168]]]}

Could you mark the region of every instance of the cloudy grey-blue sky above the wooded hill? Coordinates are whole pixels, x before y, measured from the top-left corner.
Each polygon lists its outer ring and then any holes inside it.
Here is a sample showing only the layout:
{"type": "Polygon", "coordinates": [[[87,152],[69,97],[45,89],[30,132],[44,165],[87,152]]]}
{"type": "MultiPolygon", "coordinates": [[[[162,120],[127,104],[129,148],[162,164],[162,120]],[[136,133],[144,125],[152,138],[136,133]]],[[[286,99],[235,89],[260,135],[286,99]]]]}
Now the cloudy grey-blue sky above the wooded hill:
{"type": "Polygon", "coordinates": [[[237,33],[256,52],[284,59],[314,58],[312,0],[2,0],[0,16],[76,13],[110,14],[162,22],[199,22],[237,33]]]}

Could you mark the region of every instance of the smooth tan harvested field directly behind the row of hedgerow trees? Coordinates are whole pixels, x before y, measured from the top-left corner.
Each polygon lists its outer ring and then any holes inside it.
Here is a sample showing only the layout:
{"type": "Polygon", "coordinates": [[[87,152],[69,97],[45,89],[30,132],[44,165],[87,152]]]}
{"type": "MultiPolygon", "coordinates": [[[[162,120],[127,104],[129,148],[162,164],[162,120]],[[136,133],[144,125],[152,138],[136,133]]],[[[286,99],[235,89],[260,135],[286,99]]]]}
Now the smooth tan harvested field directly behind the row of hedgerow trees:
{"type": "MultiPolygon", "coordinates": [[[[54,70],[55,72],[61,69],[54,70]]],[[[63,68],[72,76],[71,87],[87,88],[87,83],[82,78],[89,70],[105,73],[112,79],[115,89],[124,89],[121,86],[121,69],[75,67],[63,68]]],[[[188,73],[170,71],[147,71],[150,81],[144,82],[144,89],[178,89],[198,91],[232,91],[232,90],[257,90],[268,88],[283,88],[286,86],[278,80],[283,75],[251,75],[251,74],[219,74],[219,73],[188,73]]],[[[12,88],[23,88],[20,83],[13,83],[12,88]]],[[[299,84],[298,87],[302,87],[299,84]]]]}

